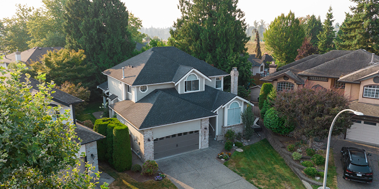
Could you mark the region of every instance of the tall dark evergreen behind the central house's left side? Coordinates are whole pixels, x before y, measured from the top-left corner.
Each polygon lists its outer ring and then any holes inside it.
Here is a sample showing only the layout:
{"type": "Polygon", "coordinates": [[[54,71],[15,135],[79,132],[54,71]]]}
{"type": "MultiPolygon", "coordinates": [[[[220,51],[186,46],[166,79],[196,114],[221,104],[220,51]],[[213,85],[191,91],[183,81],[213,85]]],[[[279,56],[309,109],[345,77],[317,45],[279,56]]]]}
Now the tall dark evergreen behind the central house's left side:
{"type": "Polygon", "coordinates": [[[64,18],[66,47],[83,49],[99,73],[132,56],[128,11],[119,0],[69,0],[64,18]]]}

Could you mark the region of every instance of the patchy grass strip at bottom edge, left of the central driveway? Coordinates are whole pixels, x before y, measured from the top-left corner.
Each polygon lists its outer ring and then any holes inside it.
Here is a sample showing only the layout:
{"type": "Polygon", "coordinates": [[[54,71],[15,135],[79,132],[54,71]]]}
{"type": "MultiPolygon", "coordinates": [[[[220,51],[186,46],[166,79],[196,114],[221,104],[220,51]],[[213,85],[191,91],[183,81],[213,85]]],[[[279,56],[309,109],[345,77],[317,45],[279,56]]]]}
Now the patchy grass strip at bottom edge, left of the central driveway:
{"type": "Polygon", "coordinates": [[[117,172],[113,168],[108,165],[99,165],[101,170],[108,173],[115,180],[108,186],[111,189],[119,189],[119,188],[132,188],[132,189],[177,189],[175,184],[171,182],[167,177],[162,181],[148,180],[146,182],[138,182],[130,177],[128,174],[123,172],[117,172]]]}

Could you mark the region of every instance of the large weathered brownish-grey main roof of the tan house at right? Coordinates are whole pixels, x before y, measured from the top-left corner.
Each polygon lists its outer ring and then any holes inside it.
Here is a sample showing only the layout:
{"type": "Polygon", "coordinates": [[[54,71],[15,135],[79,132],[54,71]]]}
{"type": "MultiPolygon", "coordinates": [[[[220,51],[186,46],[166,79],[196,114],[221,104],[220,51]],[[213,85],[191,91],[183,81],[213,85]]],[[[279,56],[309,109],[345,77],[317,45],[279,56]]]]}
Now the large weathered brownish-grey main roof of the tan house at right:
{"type": "MultiPolygon", "coordinates": [[[[322,57],[322,55],[319,57],[322,57]]],[[[368,67],[370,65],[369,62],[371,61],[371,57],[371,53],[358,49],[338,58],[333,58],[325,62],[325,64],[305,70],[299,73],[299,75],[340,78],[349,73],[368,67]]],[[[379,56],[374,55],[374,62],[378,61],[379,56]]]]}

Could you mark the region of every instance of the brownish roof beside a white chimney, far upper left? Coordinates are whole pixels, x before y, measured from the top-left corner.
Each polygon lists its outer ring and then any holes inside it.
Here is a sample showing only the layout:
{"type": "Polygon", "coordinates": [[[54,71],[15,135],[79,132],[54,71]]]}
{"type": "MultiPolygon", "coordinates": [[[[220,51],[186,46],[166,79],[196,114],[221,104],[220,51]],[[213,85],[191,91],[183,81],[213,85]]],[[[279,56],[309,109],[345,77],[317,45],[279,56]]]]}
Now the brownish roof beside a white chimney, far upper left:
{"type": "MultiPolygon", "coordinates": [[[[48,51],[61,50],[62,47],[34,47],[21,52],[21,61],[26,65],[30,65],[31,62],[39,60],[43,54],[48,53],[48,51]]],[[[3,57],[5,63],[11,63],[16,61],[15,53],[7,54],[3,57]]]]}

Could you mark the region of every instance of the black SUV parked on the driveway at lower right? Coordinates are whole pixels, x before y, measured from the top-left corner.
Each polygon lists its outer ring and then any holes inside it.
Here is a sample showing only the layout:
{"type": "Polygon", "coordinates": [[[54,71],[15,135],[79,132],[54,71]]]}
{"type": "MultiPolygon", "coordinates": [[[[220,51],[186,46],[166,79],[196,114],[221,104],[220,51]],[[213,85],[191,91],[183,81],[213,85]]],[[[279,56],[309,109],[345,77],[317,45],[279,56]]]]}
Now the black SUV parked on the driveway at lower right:
{"type": "Polygon", "coordinates": [[[341,162],[346,180],[372,183],[372,169],[370,161],[364,149],[342,147],[341,162]]]}

